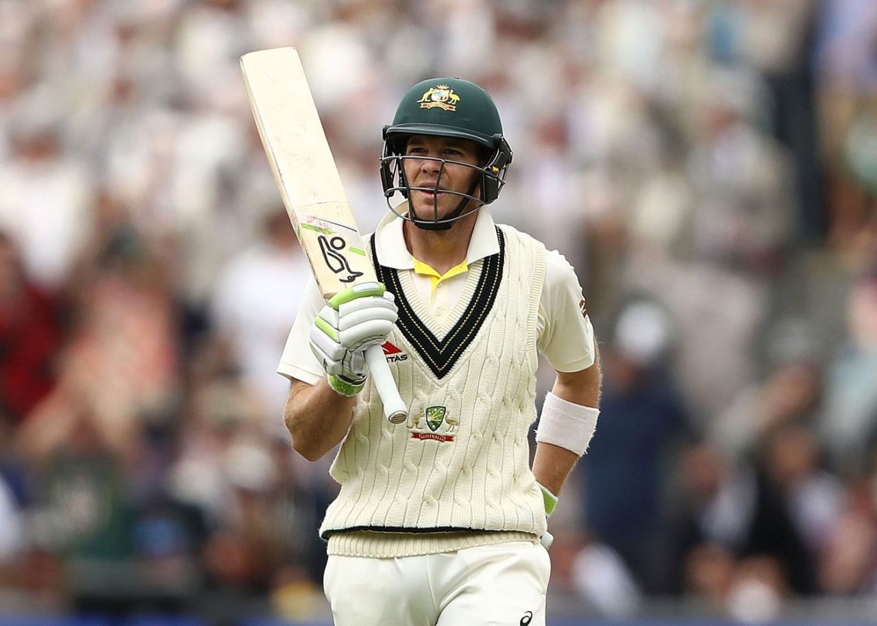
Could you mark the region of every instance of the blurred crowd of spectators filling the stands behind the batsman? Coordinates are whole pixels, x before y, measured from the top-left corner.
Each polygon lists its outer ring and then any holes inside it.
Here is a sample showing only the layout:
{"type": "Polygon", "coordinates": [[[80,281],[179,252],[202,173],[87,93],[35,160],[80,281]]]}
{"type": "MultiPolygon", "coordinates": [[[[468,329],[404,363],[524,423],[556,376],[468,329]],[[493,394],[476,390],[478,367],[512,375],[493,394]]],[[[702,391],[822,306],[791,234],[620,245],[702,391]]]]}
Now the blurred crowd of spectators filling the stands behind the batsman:
{"type": "Polygon", "coordinates": [[[877,3],[0,0],[3,610],[324,615],[275,374],[308,270],[238,68],[288,45],[364,230],[411,84],[496,99],[494,215],[605,371],[554,597],[877,599],[877,3]]]}

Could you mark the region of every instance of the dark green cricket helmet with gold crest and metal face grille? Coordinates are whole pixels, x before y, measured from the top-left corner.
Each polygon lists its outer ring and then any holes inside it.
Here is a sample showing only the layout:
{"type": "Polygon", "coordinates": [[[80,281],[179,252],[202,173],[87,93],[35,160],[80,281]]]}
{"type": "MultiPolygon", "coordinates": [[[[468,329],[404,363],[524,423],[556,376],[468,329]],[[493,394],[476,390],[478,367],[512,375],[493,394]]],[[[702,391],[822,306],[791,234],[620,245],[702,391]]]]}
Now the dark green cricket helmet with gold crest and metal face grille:
{"type": "MultiPolygon", "coordinates": [[[[410,196],[411,189],[439,191],[439,183],[435,187],[411,187],[405,176],[403,160],[431,159],[441,163],[459,163],[447,159],[431,157],[407,156],[406,145],[411,135],[434,135],[468,139],[481,148],[485,158],[481,167],[462,163],[478,171],[472,188],[467,193],[450,191],[447,193],[460,196],[460,204],[450,217],[438,219],[438,200],[436,200],[436,218],[425,219],[423,216],[400,215],[409,219],[421,228],[445,230],[454,221],[466,217],[478,210],[482,204],[489,204],[499,196],[505,184],[506,170],[511,163],[512,152],[503,137],[503,124],[500,121],[496,104],[488,93],[474,82],[460,78],[431,78],[418,82],[403,96],[402,103],[396,110],[393,124],[383,129],[383,154],[381,155],[381,184],[384,196],[390,209],[393,210],[390,198],[398,191],[404,197],[410,196]],[[481,188],[481,195],[475,196],[481,188]],[[464,209],[474,201],[474,206],[464,209]]],[[[439,170],[439,180],[441,173],[439,170]]],[[[443,190],[446,191],[446,190],[443,190]]],[[[437,196],[436,196],[437,197],[437,196]]]]}

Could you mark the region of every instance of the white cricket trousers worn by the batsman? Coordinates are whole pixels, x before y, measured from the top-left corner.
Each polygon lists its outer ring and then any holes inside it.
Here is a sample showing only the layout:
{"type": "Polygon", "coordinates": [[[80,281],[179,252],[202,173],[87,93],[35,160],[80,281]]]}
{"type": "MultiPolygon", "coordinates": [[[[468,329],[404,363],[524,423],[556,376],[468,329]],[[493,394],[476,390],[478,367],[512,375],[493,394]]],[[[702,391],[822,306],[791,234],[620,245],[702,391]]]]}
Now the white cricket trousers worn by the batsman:
{"type": "Polygon", "coordinates": [[[545,626],[551,573],[540,544],[507,542],[418,557],[330,556],[336,626],[545,626]]]}

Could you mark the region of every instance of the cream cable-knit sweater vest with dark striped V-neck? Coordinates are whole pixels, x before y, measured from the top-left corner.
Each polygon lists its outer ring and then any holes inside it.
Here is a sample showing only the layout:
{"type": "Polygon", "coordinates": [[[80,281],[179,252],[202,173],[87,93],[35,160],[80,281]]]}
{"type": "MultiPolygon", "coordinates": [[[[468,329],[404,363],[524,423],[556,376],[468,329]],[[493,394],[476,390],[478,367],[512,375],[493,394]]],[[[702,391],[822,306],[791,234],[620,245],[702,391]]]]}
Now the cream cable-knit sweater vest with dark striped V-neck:
{"type": "Polygon", "coordinates": [[[409,274],[379,268],[400,308],[385,352],[410,416],[388,423],[367,384],[332,463],[341,489],[321,536],[373,530],[429,543],[432,533],[545,531],[527,441],[545,246],[510,226],[497,235],[501,252],[470,267],[446,322],[431,316],[409,274]]]}

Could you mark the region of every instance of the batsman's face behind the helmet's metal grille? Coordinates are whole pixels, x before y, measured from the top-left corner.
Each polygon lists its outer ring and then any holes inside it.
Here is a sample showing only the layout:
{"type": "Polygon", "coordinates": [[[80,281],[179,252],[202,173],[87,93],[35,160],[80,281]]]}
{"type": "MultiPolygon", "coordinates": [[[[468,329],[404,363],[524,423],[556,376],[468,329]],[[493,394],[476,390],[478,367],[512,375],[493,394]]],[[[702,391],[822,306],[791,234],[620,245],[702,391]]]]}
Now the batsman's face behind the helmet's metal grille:
{"type": "Polygon", "coordinates": [[[481,189],[472,191],[478,175],[474,167],[481,166],[480,151],[474,141],[412,135],[405,154],[413,157],[403,159],[403,167],[412,188],[409,200],[417,217],[443,219],[459,206],[458,194],[481,196],[481,189]],[[448,193],[452,191],[457,194],[448,193]]]}

